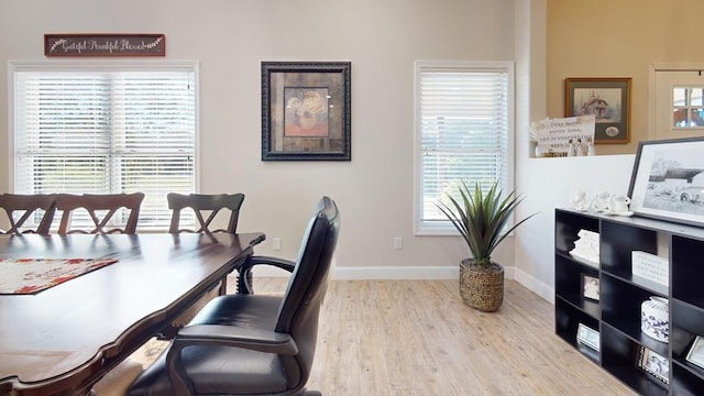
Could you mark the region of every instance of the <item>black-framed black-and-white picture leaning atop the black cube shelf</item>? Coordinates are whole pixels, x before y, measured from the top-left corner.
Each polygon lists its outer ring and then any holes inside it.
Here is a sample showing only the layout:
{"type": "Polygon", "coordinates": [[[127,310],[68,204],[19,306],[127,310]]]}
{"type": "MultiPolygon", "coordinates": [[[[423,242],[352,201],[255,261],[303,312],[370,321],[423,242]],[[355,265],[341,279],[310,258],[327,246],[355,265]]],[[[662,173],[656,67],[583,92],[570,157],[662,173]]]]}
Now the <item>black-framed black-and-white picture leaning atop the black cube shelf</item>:
{"type": "Polygon", "coordinates": [[[638,143],[630,210],[638,216],[704,226],[704,138],[638,143]]]}

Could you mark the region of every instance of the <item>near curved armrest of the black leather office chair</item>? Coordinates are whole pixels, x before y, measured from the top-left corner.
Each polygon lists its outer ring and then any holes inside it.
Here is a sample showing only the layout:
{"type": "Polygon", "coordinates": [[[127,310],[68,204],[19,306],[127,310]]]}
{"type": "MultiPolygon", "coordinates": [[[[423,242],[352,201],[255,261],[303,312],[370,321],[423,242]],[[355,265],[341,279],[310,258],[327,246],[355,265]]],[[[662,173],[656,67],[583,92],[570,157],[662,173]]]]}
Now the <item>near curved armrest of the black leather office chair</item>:
{"type": "Polygon", "coordinates": [[[243,329],[226,324],[196,324],[183,328],[166,354],[166,369],[175,395],[194,395],[193,381],[182,361],[182,350],[191,345],[243,348],[253,351],[294,355],[298,345],[289,334],[243,329]]]}

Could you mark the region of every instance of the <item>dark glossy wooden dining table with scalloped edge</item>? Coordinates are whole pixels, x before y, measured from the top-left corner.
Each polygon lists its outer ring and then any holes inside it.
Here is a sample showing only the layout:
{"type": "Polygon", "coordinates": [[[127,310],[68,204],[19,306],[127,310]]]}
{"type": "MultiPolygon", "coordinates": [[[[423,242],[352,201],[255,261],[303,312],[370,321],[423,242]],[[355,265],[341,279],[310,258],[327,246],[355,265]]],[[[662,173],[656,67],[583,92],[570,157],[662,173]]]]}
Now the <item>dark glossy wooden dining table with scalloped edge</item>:
{"type": "Polygon", "coordinates": [[[0,258],[117,260],[35,294],[0,295],[0,395],[88,394],[263,240],[262,233],[0,235],[0,258]]]}

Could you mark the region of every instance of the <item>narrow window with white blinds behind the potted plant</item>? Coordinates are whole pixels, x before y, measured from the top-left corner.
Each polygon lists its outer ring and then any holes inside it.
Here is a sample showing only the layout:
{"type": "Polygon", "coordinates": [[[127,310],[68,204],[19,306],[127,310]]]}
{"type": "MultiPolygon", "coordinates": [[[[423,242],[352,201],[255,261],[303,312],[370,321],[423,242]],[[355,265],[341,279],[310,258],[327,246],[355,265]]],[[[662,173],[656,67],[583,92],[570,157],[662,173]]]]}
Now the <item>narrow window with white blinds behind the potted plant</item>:
{"type": "Polygon", "coordinates": [[[513,186],[509,62],[416,63],[416,234],[453,234],[436,204],[462,182],[513,186]]]}

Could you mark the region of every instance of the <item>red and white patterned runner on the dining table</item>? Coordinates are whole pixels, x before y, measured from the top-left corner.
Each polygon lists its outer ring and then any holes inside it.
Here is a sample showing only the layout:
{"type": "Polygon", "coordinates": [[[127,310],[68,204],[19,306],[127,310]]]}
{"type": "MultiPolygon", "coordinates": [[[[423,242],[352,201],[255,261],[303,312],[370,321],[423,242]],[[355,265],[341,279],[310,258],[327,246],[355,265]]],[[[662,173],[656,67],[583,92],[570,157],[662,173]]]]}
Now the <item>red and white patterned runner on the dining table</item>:
{"type": "Polygon", "coordinates": [[[35,294],[117,261],[117,258],[0,257],[0,294],[35,294]]]}

